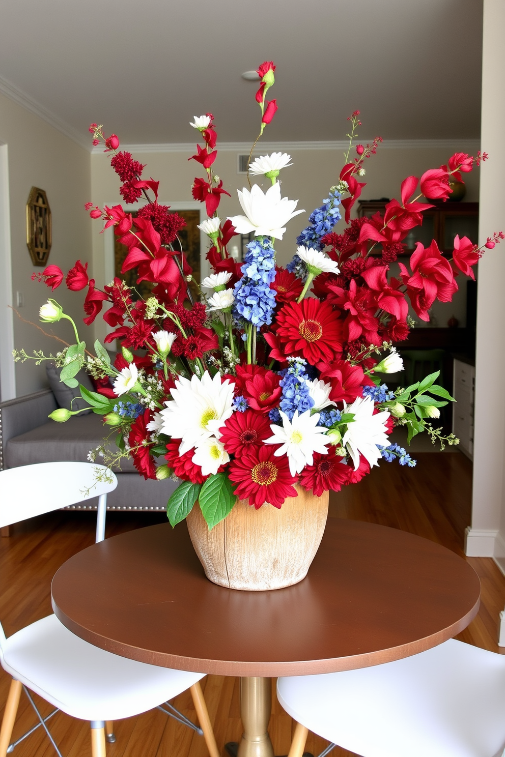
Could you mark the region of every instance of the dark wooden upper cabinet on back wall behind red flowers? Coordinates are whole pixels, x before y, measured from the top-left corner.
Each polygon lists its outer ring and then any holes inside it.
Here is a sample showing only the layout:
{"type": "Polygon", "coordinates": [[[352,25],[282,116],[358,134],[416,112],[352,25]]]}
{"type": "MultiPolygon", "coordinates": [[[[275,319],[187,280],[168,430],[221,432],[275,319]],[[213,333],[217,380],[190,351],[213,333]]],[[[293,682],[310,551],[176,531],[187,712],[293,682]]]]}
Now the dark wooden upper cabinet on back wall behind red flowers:
{"type": "MultiPolygon", "coordinates": [[[[372,217],[375,213],[384,213],[385,200],[358,201],[358,216],[372,217]]],[[[422,213],[422,226],[410,229],[404,238],[407,245],[405,254],[411,254],[416,248],[416,242],[420,241],[428,247],[432,239],[435,239],[441,252],[451,253],[453,250],[454,237],[467,236],[475,244],[479,232],[479,203],[478,202],[451,202],[447,200],[430,201],[435,207],[422,213]]],[[[379,248],[379,245],[377,245],[379,248]]]]}

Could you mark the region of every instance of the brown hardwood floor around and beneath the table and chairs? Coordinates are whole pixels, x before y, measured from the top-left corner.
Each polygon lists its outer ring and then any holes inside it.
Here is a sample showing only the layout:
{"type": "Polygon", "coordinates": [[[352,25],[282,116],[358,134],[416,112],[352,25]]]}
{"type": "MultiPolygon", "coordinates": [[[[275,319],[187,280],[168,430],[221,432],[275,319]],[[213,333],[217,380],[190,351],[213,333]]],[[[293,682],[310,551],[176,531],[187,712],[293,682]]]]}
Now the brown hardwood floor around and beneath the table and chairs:
{"type": "MultiPolygon", "coordinates": [[[[330,498],[330,517],[351,518],[401,528],[444,544],[463,556],[463,536],[470,516],[472,466],[459,452],[419,453],[415,469],[383,463],[360,484],[330,498]]],[[[107,536],[164,522],[163,515],[110,513],[107,536]]],[[[10,634],[51,612],[51,578],[66,559],[92,544],[95,516],[88,512],[55,512],[17,525],[12,537],[0,539],[0,618],[10,634]]],[[[498,650],[497,621],[505,607],[505,577],[488,558],[468,558],[482,581],[479,615],[458,638],[488,650],[498,650]]],[[[504,650],[505,651],[505,650],[504,650]]],[[[10,678],[0,670],[0,703],[5,704],[10,678]]],[[[239,740],[241,722],[238,680],[207,676],[202,681],[218,746],[239,740]]],[[[44,714],[50,707],[38,697],[44,714]]],[[[189,692],[174,704],[195,720],[189,692]]],[[[17,738],[35,723],[24,695],[14,727],[17,738]]],[[[49,757],[55,752],[41,729],[14,749],[17,757],[49,757]]],[[[64,757],[91,755],[89,724],[58,713],[51,731],[64,757]]],[[[108,757],[207,757],[204,740],[189,728],[154,710],[115,724],[117,742],[107,745],[108,757]]],[[[291,741],[291,718],[273,696],[270,736],[276,754],[285,755],[291,741]]],[[[326,746],[309,734],[307,750],[318,754],[326,746]]],[[[335,757],[351,755],[335,748],[335,757]]]]}

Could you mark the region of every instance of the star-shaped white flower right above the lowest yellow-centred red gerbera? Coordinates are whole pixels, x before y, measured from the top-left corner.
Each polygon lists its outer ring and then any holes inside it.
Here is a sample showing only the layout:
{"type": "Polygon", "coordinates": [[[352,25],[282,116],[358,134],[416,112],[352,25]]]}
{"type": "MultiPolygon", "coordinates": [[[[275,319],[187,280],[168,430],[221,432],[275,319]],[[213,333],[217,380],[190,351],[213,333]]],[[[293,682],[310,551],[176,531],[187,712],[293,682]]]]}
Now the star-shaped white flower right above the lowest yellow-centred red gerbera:
{"type": "Polygon", "coordinates": [[[294,416],[289,420],[282,410],[279,412],[282,426],[270,425],[273,436],[265,439],[265,444],[282,444],[274,455],[287,455],[289,471],[291,475],[295,475],[301,473],[305,466],[312,465],[314,452],[326,455],[326,445],[330,440],[326,438],[326,428],[316,425],[320,419],[319,413],[311,416],[310,410],[305,410],[298,415],[298,410],[295,410],[294,416]]]}

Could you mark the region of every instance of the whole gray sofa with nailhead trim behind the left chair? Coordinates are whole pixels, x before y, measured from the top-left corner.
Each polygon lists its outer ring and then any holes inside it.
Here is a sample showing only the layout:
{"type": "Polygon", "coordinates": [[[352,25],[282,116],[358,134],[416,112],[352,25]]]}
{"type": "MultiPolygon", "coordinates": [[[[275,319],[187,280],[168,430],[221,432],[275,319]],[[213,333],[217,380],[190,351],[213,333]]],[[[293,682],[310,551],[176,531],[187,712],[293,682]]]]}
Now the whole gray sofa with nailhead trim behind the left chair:
{"type": "MultiPolygon", "coordinates": [[[[89,450],[108,436],[110,429],[95,413],[72,416],[66,423],[48,419],[57,407],[51,389],[0,403],[0,469],[61,460],[86,462],[89,450]]],[[[177,486],[171,479],[145,481],[130,459],[114,472],[117,489],[107,497],[111,510],[164,510],[177,486]]],[[[87,500],[70,509],[95,509],[97,502],[87,500]]]]}

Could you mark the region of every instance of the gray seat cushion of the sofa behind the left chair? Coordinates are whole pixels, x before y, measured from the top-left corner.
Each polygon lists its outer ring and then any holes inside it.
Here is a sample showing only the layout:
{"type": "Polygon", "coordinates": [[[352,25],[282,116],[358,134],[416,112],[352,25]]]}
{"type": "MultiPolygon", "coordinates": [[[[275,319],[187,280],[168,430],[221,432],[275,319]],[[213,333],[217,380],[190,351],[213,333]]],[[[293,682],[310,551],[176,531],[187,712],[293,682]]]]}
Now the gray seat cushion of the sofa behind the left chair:
{"type": "MultiPolygon", "coordinates": [[[[86,462],[89,450],[103,444],[111,433],[111,428],[104,425],[101,416],[90,413],[86,416],[72,416],[66,423],[49,420],[44,425],[14,436],[8,440],[5,449],[5,466],[28,466],[32,463],[52,463],[58,460],[86,462]]],[[[111,435],[109,446],[114,444],[115,432],[111,435]]],[[[97,459],[100,463],[101,459],[97,459]]],[[[121,460],[121,471],[136,472],[132,459],[121,460]]],[[[114,471],[118,468],[114,467],[114,471]]]]}

